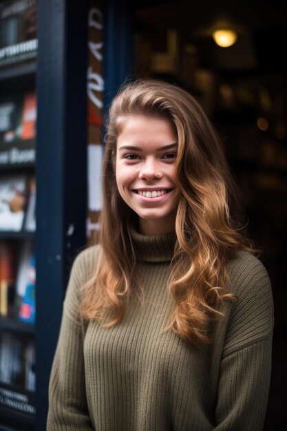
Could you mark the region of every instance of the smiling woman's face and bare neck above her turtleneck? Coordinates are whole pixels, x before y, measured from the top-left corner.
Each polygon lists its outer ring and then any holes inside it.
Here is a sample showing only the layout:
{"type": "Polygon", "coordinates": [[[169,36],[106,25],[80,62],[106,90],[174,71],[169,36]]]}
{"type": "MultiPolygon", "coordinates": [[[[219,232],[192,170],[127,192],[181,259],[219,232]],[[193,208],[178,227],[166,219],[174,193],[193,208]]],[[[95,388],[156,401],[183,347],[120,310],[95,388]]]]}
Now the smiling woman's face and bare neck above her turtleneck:
{"type": "Polygon", "coordinates": [[[145,235],[174,230],[177,150],[178,138],[167,119],[125,118],[116,145],[116,183],[120,196],[138,214],[145,235]]]}

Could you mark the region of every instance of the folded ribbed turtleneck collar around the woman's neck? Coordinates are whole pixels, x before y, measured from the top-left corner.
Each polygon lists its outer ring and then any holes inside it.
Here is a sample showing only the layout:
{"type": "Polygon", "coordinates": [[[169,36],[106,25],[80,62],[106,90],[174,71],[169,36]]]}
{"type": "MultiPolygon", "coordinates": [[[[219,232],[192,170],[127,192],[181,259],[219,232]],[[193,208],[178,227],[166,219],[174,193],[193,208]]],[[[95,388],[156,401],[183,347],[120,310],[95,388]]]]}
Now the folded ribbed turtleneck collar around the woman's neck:
{"type": "Polygon", "coordinates": [[[138,260],[142,262],[171,262],[176,244],[175,232],[148,236],[131,229],[131,239],[138,260]]]}

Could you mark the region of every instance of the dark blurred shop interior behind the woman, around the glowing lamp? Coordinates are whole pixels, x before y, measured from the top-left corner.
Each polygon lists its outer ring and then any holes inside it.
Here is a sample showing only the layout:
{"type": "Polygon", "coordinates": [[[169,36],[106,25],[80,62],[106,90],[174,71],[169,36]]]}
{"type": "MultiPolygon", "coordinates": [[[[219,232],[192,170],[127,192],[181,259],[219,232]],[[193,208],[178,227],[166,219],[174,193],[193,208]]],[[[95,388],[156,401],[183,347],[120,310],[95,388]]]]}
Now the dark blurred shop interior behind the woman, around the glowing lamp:
{"type": "Polygon", "coordinates": [[[135,74],[178,83],[220,132],[242,192],[248,234],[261,250],[275,305],[265,431],[286,423],[286,13],[278,1],[176,1],[136,11],[135,74]],[[237,32],[220,48],[217,25],[237,32]]]}

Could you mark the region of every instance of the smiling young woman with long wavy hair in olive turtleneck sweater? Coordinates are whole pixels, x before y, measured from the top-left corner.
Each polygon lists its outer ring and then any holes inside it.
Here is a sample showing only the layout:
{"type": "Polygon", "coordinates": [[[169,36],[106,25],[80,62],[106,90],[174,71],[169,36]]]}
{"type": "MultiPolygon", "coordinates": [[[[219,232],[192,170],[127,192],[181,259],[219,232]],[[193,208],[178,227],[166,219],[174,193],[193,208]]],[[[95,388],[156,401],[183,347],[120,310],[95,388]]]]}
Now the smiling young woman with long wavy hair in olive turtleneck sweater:
{"type": "Polygon", "coordinates": [[[257,431],[273,299],[202,107],[139,79],[111,103],[100,244],[76,257],[47,430],[257,431]]]}

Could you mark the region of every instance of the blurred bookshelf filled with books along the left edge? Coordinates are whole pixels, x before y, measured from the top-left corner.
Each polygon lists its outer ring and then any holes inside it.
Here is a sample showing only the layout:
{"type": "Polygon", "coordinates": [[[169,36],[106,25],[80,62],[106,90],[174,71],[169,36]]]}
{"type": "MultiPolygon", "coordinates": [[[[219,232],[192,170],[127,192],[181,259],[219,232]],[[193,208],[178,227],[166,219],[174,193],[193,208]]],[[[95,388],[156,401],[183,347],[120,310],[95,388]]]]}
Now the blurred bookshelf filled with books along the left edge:
{"type": "Polygon", "coordinates": [[[36,229],[36,1],[0,1],[0,25],[0,429],[31,430],[36,388],[35,277],[31,280],[29,267],[36,229]]]}

